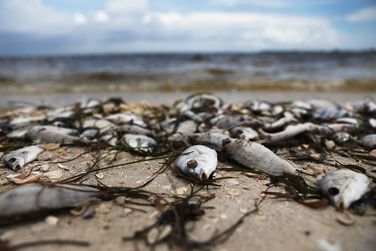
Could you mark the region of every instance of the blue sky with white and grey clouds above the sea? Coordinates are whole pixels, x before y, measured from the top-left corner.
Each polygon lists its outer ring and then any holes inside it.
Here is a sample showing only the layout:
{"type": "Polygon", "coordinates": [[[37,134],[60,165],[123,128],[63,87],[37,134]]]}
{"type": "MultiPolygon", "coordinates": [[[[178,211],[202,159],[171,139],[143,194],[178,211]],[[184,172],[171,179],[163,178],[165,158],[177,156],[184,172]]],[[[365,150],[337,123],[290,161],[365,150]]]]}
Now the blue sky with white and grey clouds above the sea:
{"type": "Polygon", "coordinates": [[[0,0],[0,56],[376,48],[376,0],[0,0]]]}

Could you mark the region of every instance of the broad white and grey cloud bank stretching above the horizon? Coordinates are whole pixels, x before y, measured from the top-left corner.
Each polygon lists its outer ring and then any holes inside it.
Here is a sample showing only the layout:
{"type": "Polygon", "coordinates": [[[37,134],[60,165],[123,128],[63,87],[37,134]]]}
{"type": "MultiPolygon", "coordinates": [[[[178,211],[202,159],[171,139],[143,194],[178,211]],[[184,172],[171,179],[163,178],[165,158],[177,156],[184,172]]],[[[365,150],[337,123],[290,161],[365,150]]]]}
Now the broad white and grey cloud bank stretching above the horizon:
{"type": "Polygon", "coordinates": [[[3,55],[43,50],[99,53],[332,49],[338,43],[337,30],[325,18],[261,12],[156,12],[149,8],[147,0],[132,4],[109,0],[103,9],[71,14],[43,5],[41,0],[0,0],[0,37],[3,55]],[[23,40],[16,41],[20,37],[23,40]],[[10,44],[18,49],[4,49],[10,44]]]}

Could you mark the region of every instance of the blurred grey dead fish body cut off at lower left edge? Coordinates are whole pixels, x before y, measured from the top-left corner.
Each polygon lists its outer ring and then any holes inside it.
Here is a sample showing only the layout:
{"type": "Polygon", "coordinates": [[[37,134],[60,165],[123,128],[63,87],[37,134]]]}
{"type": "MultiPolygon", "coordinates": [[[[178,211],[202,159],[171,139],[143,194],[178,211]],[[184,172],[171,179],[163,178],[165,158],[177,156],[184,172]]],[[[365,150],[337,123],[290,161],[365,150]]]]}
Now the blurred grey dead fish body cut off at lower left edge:
{"type": "Polygon", "coordinates": [[[26,214],[79,207],[82,201],[99,201],[100,190],[67,184],[31,183],[0,194],[0,219],[9,220],[26,214]]]}

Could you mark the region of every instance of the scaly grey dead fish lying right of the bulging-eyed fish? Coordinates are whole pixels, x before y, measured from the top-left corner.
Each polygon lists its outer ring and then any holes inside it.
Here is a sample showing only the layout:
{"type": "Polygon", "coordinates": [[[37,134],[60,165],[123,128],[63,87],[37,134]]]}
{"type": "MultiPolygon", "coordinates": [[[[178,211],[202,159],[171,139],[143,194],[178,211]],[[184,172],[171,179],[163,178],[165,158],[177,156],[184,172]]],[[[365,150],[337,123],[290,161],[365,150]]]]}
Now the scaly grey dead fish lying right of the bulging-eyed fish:
{"type": "MultiPolygon", "coordinates": [[[[230,154],[230,158],[243,166],[260,170],[261,172],[279,176],[279,175],[298,175],[298,167],[291,161],[285,160],[265,146],[247,141],[247,140],[229,140],[223,141],[224,150],[230,154]]],[[[317,180],[314,177],[301,174],[310,186],[317,186],[317,180]]]]}

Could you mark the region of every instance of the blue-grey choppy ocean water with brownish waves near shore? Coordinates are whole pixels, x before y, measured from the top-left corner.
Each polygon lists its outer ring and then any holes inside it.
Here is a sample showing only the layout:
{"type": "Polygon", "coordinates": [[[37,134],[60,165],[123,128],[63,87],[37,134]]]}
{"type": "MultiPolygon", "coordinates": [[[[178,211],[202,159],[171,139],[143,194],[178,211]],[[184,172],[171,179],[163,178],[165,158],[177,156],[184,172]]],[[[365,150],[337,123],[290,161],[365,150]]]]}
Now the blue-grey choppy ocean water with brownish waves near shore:
{"type": "Polygon", "coordinates": [[[376,90],[376,52],[121,54],[0,58],[10,91],[376,90]]]}

